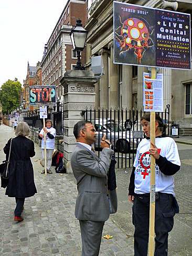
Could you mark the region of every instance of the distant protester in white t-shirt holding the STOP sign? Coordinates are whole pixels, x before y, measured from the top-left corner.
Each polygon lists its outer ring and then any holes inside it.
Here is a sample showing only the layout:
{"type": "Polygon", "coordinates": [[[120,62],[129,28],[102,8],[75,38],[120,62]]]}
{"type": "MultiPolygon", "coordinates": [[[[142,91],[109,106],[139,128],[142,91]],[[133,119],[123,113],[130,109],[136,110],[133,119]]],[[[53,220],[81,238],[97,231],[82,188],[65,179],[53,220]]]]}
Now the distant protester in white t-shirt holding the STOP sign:
{"type": "MultiPolygon", "coordinates": [[[[46,155],[47,155],[47,173],[51,174],[51,162],[52,162],[52,153],[54,152],[55,148],[55,136],[56,136],[56,130],[54,127],[52,127],[52,121],[47,120],[45,122],[45,126],[43,127],[39,133],[39,139],[41,141],[41,151],[42,151],[42,161],[45,162],[45,156],[44,156],[44,148],[45,148],[45,141],[44,141],[44,132],[46,133],[46,155]]],[[[45,169],[42,170],[42,174],[45,173],[45,169]]]]}

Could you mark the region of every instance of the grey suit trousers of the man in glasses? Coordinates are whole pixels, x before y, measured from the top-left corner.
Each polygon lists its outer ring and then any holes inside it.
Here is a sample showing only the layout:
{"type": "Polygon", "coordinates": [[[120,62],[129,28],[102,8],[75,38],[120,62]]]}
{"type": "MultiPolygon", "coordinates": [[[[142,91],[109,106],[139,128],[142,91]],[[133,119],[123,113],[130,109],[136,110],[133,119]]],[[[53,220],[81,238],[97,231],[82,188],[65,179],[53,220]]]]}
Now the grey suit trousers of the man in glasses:
{"type": "Polygon", "coordinates": [[[82,240],[81,256],[98,256],[104,221],[79,220],[82,240]]]}

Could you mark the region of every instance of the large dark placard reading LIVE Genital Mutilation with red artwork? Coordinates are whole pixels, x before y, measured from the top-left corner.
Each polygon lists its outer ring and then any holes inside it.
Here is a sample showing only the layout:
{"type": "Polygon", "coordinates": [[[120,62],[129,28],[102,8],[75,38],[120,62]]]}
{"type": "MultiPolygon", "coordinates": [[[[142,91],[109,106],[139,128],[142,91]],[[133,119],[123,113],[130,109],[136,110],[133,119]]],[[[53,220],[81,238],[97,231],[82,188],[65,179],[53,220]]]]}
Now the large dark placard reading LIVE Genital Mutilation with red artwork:
{"type": "Polygon", "coordinates": [[[190,14],[114,3],[114,63],[191,69],[190,14]]]}

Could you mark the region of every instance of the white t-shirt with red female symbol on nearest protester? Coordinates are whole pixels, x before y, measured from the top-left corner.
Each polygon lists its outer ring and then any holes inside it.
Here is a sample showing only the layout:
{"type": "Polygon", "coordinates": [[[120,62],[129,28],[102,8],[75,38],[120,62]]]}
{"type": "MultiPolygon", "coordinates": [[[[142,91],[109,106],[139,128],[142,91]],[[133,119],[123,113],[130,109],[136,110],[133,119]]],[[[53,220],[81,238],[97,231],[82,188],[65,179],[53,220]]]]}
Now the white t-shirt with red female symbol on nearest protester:
{"type": "MultiPolygon", "coordinates": [[[[155,145],[159,150],[159,154],[166,157],[168,161],[180,166],[180,159],[177,150],[177,145],[173,138],[157,137],[155,138],[155,145]]],[[[150,193],[150,176],[151,176],[151,156],[148,152],[150,149],[150,140],[144,138],[138,144],[135,161],[135,190],[136,194],[150,193]]],[[[159,170],[155,164],[155,191],[167,194],[174,193],[174,177],[167,176],[159,170]]]]}

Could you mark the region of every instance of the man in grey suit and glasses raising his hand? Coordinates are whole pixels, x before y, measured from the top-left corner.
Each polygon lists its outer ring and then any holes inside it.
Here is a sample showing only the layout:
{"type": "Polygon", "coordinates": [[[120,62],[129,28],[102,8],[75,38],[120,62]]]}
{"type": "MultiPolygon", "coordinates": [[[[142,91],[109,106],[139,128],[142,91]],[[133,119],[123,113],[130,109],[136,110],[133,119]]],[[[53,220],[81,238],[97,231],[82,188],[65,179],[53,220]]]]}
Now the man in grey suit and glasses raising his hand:
{"type": "Polygon", "coordinates": [[[71,156],[71,167],[77,179],[78,196],[75,216],[79,220],[82,256],[98,256],[105,220],[109,219],[107,173],[113,151],[103,136],[100,158],[91,151],[95,142],[95,129],[89,121],[74,125],[77,146],[71,156]]]}

